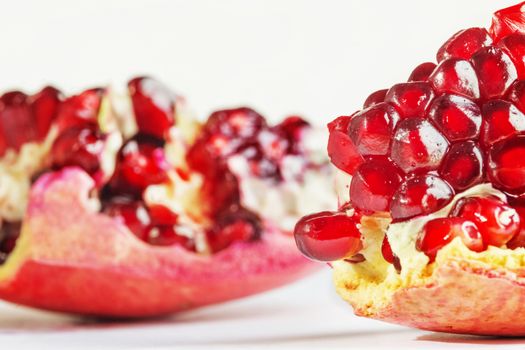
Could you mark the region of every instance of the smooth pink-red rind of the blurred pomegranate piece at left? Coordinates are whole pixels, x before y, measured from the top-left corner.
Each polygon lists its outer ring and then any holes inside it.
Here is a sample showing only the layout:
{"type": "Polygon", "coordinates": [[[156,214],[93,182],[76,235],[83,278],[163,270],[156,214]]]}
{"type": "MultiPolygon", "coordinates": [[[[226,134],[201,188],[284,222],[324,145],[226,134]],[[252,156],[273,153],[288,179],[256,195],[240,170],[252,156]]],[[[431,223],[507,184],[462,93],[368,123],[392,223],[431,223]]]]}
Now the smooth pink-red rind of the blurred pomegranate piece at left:
{"type": "Polygon", "coordinates": [[[211,256],[147,245],[97,211],[93,187],[78,168],[33,185],[19,243],[0,267],[1,299],[83,315],[159,316],[263,292],[316,268],[274,228],[211,256]]]}

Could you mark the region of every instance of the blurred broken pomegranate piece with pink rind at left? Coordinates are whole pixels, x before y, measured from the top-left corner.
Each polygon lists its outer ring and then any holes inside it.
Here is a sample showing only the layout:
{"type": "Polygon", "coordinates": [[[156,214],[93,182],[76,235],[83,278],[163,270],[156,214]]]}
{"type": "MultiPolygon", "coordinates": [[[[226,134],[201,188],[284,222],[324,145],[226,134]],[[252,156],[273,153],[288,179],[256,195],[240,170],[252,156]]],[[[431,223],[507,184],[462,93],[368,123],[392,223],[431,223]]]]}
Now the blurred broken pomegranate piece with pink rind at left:
{"type": "MultiPolygon", "coordinates": [[[[160,82],[140,77],[128,88],[122,115],[104,88],[0,98],[0,298],[156,316],[315,268],[290,234],[306,214],[309,179],[329,183],[328,161],[304,142],[316,137],[308,122],[270,126],[242,107],[196,126],[160,82]]],[[[328,194],[315,201],[319,210],[335,200],[328,194]]]]}

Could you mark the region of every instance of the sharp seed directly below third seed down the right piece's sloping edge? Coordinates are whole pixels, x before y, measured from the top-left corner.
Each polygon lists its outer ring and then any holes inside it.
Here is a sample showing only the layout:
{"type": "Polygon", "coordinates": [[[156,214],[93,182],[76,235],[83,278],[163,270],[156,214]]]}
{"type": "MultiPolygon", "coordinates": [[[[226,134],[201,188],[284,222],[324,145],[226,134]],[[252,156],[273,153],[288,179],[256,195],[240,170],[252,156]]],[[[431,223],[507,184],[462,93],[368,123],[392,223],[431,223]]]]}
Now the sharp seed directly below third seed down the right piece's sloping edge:
{"type": "Polygon", "coordinates": [[[396,84],[388,90],[385,101],[396,106],[401,117],[424,117],[434,99],[434,91],[427,82],[396,84]]]}

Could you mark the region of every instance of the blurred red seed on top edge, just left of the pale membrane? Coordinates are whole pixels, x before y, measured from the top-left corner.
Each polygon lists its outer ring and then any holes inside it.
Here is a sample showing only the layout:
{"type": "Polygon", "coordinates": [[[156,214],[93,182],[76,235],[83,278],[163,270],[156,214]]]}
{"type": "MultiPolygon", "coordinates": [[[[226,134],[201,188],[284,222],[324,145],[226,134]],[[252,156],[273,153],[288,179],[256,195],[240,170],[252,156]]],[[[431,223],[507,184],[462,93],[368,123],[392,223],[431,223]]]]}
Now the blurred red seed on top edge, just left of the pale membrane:
{"type": "Polygon", "coordinates": [[[105,89],[95,88],[68,97],[60,105],[58,111],[57,122],[59,130],[96,126],[105,92],[105,89]]]}

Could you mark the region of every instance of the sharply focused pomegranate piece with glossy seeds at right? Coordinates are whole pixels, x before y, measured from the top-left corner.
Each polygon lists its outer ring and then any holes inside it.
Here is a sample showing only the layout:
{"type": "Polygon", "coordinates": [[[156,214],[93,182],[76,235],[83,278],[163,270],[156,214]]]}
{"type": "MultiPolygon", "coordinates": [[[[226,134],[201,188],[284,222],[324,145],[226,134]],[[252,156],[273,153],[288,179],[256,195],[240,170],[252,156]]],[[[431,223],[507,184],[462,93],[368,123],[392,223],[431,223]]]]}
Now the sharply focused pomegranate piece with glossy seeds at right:
{"type": "Polygon", "coordinates": [[[297,246],[358,315],[523,336],[525,3],[436,58],[328,125],[340,208],[301,219],[297,246]]]}

